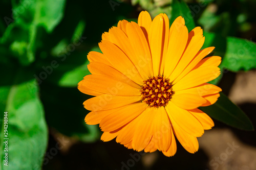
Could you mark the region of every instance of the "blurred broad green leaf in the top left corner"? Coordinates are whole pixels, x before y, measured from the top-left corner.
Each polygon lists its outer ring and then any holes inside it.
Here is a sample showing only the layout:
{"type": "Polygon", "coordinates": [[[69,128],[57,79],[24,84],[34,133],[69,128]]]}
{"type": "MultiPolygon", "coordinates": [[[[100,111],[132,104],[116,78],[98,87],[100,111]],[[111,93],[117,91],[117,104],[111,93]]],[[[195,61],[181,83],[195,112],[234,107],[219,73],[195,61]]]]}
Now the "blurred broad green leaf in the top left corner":
{"type": "Polygon", "coordinates": [[[63,16],[65,0],[12,1],[12,22],[7,22],[7,29],[0,43],[10,46],[10,52],[23,65],[35,60],[37,48],[41,45],[40,26],[48,33],[58,25],[63,16]]]}

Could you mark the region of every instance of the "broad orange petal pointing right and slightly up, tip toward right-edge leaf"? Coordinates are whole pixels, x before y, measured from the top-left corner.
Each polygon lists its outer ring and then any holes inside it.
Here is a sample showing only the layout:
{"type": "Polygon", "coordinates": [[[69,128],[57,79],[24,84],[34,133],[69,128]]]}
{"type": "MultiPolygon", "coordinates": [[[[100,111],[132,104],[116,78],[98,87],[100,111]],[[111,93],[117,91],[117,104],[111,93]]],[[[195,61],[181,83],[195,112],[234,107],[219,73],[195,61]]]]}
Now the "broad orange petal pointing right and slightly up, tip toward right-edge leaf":
{"type": "Polygon", "coordinates": [[[197,68],[190,71],[185,77],[173,85],[173,90],[183,90],[195,87],[211,80],[216,79],[220,75],[220,68],[214,66],[207,66],[197,68]]]}

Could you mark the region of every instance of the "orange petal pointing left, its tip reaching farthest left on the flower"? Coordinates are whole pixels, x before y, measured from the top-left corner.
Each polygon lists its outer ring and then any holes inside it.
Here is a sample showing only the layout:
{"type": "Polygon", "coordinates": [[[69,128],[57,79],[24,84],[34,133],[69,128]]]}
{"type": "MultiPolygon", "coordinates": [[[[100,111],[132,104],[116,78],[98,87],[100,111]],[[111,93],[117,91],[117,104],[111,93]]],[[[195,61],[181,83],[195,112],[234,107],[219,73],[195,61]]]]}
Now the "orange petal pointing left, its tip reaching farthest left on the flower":
{"type": "Polygon", "coordinates": [[[89,88],[94,91],[112,95],[140,95],[139,89],[111,77],[101,75],[87,75],[79,82],[78,89],[79,88],[89,88]]]}

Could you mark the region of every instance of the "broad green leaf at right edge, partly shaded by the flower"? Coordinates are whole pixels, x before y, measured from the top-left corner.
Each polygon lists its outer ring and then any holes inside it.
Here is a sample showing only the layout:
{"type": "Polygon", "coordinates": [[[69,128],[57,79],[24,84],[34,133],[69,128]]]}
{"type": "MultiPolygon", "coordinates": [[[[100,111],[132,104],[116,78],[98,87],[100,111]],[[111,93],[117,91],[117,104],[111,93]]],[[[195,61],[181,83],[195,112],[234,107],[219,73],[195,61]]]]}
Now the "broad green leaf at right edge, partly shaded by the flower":
{"type": "MultiPolygon", "coordinates": [[[[235,37],[223,37],[209,32],[204,32],[203,35],[205,36],[205,42],[202,48],[215,46],[212,53],[215,56],[222,57],[219,66],[222,74],[224,69],[237,72],[256,68],[256,52],[254,50],[256,44],[254,42],[235,37]]],[[[218,84],[222,74],[210,83],[218,84]]]]}

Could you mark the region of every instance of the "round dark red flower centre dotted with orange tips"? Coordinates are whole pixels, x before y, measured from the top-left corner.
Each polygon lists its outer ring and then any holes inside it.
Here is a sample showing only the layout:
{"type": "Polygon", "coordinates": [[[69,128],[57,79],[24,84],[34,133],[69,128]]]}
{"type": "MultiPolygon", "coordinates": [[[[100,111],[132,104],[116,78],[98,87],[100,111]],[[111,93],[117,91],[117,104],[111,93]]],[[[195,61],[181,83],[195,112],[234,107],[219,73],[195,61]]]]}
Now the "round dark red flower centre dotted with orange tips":
{"type": "Polygon", "coordinates": [[[172,84],[163,76],[152,77],[143,81],[141,86],[141,100],[150,107],[166,106],[172,99],[172,84]]]}

